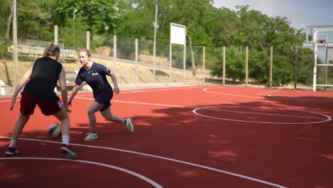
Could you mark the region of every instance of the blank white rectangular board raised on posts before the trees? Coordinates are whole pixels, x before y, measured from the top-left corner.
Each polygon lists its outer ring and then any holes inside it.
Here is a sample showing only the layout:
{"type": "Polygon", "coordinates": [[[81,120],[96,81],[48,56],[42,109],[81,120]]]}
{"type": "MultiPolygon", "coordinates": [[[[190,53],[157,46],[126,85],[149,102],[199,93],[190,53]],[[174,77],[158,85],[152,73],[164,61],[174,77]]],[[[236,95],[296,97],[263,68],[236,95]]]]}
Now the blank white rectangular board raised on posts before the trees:
{"type": "Polygon", "coordinates": [[[186,26],[170,23],[170,43],[186,46],[186,26]]]}

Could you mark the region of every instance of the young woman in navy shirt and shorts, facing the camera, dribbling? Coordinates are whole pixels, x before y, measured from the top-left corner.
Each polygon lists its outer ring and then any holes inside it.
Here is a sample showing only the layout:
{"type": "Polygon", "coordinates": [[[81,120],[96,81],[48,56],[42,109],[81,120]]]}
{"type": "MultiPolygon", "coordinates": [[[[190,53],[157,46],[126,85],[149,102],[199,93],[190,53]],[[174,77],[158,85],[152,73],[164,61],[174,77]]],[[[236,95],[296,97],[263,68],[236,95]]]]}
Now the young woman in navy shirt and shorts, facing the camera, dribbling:
{"type": "Polygon", "coordinates": [[[112,122],[119,122],[129,129],[130,132],[134,132],[134,126],[131,118],[122,119],[117,115],[113,115],[111,112],[111,103],[110,100],[113,97],[113,93],[118,95],[120,90],[117,84],[117,78],[114,73],[110,71],[109,68],[103,66],[99,63],[95,63],[90,61],[91,52],[88,49],[82,49],[79,52],[80,63],[83,66],[78,71],[78,75],[75,79],[75,86],[70,93],[70,98],[68,99],[68,106],[71,105],[73,98],[80,88],[80,85],[85,82],[90,88],[93,89],[93,95],[95,101],[88,108],[88,117],[90,122],[90,132],[87,133],[87,137],[85,137],[85,141],[93,141],[97,140],[97,132],[96,132],[96,115],[97,111],[100,111],[105,120],[109,120],[112,122]],[[112,79],[113,88],[108,83],[106,76],[109,75],[112,79]]]}

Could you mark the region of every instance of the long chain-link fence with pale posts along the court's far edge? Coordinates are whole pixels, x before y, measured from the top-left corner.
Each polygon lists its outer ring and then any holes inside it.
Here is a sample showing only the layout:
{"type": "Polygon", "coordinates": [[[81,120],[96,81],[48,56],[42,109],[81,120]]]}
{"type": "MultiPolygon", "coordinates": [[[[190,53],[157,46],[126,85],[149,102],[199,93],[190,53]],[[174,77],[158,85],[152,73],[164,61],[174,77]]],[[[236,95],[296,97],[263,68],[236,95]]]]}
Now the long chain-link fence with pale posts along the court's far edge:
{"type": "MultiPolygon", "coordinates": [[[[56,29],[54,30],[56,31],[56,29]]],[[[291,58],[278,56],[274,53],[270,55],[269,50],[253,53],[254,49],[248,49],[248,70],[245,69],[246,56],[244,48],[242,51],[238,49],[241,54],[236,56],[233,55],[235,53],[233,47],[228,47],[226,48],[226,61],[224,62],[226,64],[226,78],[224,79],[233,80],[232,71],[235,69],[233,62],[239,61],[238,75],[235,77],[235,80],[238,81],[223,82],[222,73],[213,76],[211,75],[213,66],[205,67],[206,50],[203,46],[186,46],[184,48],[184,46],[157,43],[154,56],[154,43],[149,40],[124,38],[122,36],[89,35],[87,37],[87,34],[87,31],[75,31],[73,36],[72,30],[65,31],[62,28],[58,28],[58,33],[55,34],[58,38],[50,40],[56,41],[57,39],[61,53],[60,62],[63,63],[68,73],[75,73],[81,67],[78,62],[78,50],[80,48],[90,48],[93,53],[92,61],[102,63],[111,68],[116,73],[120,84],[227,83],[270,86],[270,80],[268,79],[271,77],[272,82],[279,79],[281,74],[284,73],[282,70],[285,68],[289,70],[287,71],[289,75],[285,75],[285,77],[290,77],[290,74],[292,74],[294,79],[287,80],[282,85],[283,87],[311,89],[313,85],[314,56],[311,46],[297,47],[295,54],[291,58]],[[68,43],[68,40],[65,39],[70,37],[73,37],[73,43],[68,43]],[[262,53],[266,55],[264,56],[262,53]],[[253,56],[262,57],[259,58],[260,61],[253,61],[253,56]],[[272,72],[270,72],[271,61],[273,65],[272,72]],[[281,64],[280,62],[282,61],[287,62],[287,64],[281,64]],[[246,74],[249,79],[248,83],[244,79],[246,74]],[[261,77],[258,78],[258,75],[261,77]]],[[[14,78],[21,78],[28,65],[36,58],[42,56],[43,49],[48,41],[19,38],[17,63],[14,63],[13,58],[13,41],[9,40],[7,43],[6,56],[12,61],[2,63],[0,80],[4,81],[5,87],[13,88],[15,85],[14,78]]],[[[320,48],[319,51],[321,51],[320,48]]],[[[221,51],[222,53],[223,51],[221,51]]],[[[319,60],[319,63],[321,62],[319,60]]],[[[223,57],[217,63],[221,64],[218,66],[219,68],[223,67],[223,57]]],[[[222,70],[219,71],[222,72],[222,70]]],[[[331,66],[318,66],[317,83],[332,84],[332,71],[331,66]]],[[[72,77],[73,81],[73,75],[68,77],[72,77]]],[[[329,88],[326,87],[325,89],[329,88]]]]}

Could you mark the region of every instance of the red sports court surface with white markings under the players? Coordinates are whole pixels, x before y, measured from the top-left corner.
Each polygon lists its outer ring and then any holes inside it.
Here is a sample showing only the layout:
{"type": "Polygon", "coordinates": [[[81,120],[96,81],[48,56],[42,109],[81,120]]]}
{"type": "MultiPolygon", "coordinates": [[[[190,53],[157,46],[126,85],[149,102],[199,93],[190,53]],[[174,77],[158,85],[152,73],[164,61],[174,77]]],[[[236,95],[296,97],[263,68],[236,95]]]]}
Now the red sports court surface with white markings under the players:
{"type": "MultiPolygon", "coordinates": [[[[19,98],[18,98],[19,99],[19,98]]],[[[333,187],[333,93],[200,85],[122,90],[97,113],[98,140],[85,142],[92,93],[70,113],[72,147],[48,137],[39,108],[6,157],[19,102],[0,98],[0,187],[333,187]]]]}

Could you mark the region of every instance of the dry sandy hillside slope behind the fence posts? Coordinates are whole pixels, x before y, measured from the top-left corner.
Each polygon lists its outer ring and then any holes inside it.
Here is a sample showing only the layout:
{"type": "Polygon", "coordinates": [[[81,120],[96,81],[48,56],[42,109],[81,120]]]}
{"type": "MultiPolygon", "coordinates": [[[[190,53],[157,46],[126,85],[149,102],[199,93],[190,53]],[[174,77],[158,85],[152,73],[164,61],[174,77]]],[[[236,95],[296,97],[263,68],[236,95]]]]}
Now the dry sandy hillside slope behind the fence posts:
{"type": "MultiPolygon", "coordinates": [[[[17,65],[17,79],[21,78],[26,68],[33,61],[18,61],[17,65]]],[[[101,63],[112,71],[114,71],[117,75],[118,84],[147,84],[147,83],[170,83],[169,80],[169,69],[155,68],[155,80],[153,75],[152,66],[143,66],[143,65],[135,65],[134,63],[124,63],[117,62],[116,66],[113,61],[105,60],[102,58],[92,58],[92,61],[97,63],[101,63]],[[114,68],[114,66],[116,68],[114,68]],[[135,79],[135,70],[137,70],[137,79],[135,79]]],[[[66,71],[72,72],[78,71],[80,69],[81,64],[77,60],[72,60],[71,63],[62,62],[63,67],[66,71]]],[[[1,59],[0,60],[0,80],[3,80],[6,84],[5,87],[14,87],[14,62],[11,60],[1,59]]],[[[208,72],[206,73],[208,75],[208,72]]],[[[67,78],[73,80],[75,75],[68,74],[67,78]]],[[[193,76],[190,73],[186,73],[186,80],[184,81],[184,76],[181,71],[172,71],[171,72],[171,83],[203,83],[202,74],[193,76]]],[[[18,81],[17,80],[17,81],[18,81]]],[[[109,78],[110,83],[112,83],[109,78]]],[[[206,83],[221,83],[221,80],[205,78],[206,83]]]]}

